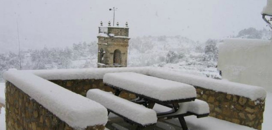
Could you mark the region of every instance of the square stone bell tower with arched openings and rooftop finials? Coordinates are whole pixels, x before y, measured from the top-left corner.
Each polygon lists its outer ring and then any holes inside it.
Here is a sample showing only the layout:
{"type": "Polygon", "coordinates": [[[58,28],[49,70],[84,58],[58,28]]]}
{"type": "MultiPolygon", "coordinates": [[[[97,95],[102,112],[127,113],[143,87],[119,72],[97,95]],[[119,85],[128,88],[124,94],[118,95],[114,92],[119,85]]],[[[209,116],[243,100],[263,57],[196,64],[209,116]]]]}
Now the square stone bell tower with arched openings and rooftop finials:
{"type": "Polygon", "coordinates": [[[112,27],[111,22],[108,26],[100,23],[98,38],[98,68],[126,67],[128,57],[128,23],[125,27],[112,27]]]}

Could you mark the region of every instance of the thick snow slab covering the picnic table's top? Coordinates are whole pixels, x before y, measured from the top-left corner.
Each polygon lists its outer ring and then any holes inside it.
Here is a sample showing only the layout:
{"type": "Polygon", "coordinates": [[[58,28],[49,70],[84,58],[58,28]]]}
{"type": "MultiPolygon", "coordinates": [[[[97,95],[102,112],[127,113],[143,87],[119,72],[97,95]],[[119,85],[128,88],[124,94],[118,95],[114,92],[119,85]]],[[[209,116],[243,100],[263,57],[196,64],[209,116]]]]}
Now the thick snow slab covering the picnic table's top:
{"type": "Polygon", "coordinates": [[[133,72],[106,73],[103,82],[159,101],[196,97],[193,86],[133,72]]]}

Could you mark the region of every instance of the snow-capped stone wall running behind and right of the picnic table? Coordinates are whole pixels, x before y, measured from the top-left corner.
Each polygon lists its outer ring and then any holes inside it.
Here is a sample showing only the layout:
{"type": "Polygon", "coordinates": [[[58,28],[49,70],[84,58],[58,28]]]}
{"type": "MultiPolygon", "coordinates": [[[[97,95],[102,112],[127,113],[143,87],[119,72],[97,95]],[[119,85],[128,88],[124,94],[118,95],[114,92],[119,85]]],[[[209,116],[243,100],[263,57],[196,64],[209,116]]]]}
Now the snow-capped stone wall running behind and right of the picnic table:
{"type": "MultiPolygon", "coordinates": [[[[109,86],[103,84],[102,79],[106,73],[135,72],[173,80],[194,86],[197,98],[208,102],[210,116],[255,129],[261,129],[262,125],[266,92],[257,86],[150,67],[24,70],[21,72],[42,77],[83,96],[86,96],[87,91],[93,88],[114,92],[109,86]]],[[[126,92],[120,95],[125,99],[135,98],[134,94],[126,92]]]]}

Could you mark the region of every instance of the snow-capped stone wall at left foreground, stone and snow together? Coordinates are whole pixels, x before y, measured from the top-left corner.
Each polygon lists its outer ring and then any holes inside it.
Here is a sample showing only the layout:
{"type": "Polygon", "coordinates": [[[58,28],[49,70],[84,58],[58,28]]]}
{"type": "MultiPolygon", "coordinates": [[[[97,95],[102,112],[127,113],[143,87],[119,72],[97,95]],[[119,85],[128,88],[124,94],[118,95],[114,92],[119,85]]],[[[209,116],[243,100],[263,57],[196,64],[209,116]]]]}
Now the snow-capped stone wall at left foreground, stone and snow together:
{"type": "Polygon", "coordinates": [[[104,129],[107,109],[99,103],[31,73],[9,70],[4,78],[7,129],[104,129]]]}

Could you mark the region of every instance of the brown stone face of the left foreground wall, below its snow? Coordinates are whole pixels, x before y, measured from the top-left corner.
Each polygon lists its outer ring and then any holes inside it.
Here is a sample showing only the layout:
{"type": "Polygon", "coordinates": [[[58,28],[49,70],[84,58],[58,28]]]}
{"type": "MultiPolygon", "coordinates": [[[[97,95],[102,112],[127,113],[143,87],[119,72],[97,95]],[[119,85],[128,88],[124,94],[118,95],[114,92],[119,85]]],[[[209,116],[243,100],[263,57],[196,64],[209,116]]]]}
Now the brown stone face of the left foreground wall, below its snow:
{"type": "MultiPolygon", "coordinates": [[[[8,81],[5,97],[7,130],[76,130],[8,81]]],[[[85,130],[104,128],[96,125],[85,130]]]]}

